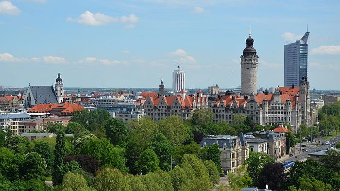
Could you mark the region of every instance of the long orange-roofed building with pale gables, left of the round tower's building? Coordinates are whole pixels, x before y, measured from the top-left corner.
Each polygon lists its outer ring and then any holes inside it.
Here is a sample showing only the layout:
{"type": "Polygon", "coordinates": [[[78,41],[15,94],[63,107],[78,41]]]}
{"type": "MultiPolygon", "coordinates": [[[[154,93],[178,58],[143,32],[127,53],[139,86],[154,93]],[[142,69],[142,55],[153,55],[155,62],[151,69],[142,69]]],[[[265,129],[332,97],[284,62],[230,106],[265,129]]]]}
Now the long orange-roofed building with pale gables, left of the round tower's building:
{"type": "Polygon", "coordinates": [[[186,92],[182,89],[178,95],[168,97],[149,96],[143,107],[146,117],[150,117],[155,121],[172,115],[178,115],[183,120],[187,120],[196,109],[207,108],[208,99],[203,96],[201,90],[198,90],[197,95],[186,95],[186,92]]]}

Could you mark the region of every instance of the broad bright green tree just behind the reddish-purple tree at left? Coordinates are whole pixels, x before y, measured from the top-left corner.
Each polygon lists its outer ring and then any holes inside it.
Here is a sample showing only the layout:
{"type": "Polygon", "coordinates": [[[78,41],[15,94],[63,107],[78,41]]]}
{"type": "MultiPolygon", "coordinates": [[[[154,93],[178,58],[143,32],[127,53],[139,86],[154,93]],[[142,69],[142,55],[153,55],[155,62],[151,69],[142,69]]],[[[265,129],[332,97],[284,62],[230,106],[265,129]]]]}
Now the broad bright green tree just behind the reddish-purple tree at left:
{"type": "Polygon", "coordinates": [[[89,139],[82,144],[79,153],[96,158],[103,167],[111,166],[123,172],[128,171],[125,167],[124,149],[114,147],[108,139],[89,139]]]}

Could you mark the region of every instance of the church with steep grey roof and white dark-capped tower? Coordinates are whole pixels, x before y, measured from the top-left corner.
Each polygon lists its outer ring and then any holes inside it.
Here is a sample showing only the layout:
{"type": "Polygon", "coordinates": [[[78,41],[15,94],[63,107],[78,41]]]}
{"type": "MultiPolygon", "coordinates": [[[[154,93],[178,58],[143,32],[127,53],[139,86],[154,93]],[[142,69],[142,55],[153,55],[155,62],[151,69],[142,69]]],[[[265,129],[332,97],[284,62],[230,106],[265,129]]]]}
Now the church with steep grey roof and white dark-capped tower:
{"type": "Polygon", "coordinates": [[[29,84],[23,104],[26,108],[31,108],[36,104],[57,104],[63,99],[63,80],[58,73],[58,78],[55,80],[55,90],[53,86],[31,86],[29,84]]]}

